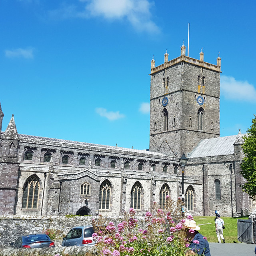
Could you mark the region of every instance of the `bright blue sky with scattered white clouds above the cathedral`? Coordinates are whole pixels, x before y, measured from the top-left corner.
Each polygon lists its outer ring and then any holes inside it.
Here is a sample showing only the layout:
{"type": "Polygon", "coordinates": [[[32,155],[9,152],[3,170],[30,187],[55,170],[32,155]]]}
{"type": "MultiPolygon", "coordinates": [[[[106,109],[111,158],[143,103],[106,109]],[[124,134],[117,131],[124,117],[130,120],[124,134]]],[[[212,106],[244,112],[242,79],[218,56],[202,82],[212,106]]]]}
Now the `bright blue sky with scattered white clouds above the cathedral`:
{"type": "Polygon", "coordinates": [[[222,58],[220,135],[256,107],[255,1],[0,0],[2,130],[149,147],[150,60],[222,58]]]}

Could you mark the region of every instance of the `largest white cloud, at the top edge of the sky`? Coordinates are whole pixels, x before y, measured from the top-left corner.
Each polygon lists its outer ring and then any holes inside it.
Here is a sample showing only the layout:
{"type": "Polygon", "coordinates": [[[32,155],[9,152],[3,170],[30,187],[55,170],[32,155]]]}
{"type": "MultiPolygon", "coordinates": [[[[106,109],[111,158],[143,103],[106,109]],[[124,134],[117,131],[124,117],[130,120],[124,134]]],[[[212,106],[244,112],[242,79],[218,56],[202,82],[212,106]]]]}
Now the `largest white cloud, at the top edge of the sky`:
{"type": "Polygon", "coordinates": [[[49,11],[52,18],[103,17],[108,20],[127,20],[138,31],[159,32],[151,19],[149,0],[79,0],[80,5],[62,4],[57,10],[49,11]]]}

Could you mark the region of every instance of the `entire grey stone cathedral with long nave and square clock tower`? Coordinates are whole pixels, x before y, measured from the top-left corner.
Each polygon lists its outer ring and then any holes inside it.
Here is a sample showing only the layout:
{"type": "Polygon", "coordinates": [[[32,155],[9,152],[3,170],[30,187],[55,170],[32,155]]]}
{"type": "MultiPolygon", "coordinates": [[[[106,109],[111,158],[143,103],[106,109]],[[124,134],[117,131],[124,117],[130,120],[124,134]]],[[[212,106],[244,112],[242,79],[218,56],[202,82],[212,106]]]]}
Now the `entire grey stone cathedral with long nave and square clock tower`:
{"type": "MultiPolygon", "coordinates": [[[[154,201],[164,209],[167,195],[181,197],[183,152],[193,215],[246,214],[244,134],[220,137],[220,64],[186,56],[184,45],[178,58],[151,61],[149,150],[18,134],[12,115],[0,133],[0,215],[144,215],[154,201]]],[[[0,131],[3,117],[0,105],[0,131]]]]}

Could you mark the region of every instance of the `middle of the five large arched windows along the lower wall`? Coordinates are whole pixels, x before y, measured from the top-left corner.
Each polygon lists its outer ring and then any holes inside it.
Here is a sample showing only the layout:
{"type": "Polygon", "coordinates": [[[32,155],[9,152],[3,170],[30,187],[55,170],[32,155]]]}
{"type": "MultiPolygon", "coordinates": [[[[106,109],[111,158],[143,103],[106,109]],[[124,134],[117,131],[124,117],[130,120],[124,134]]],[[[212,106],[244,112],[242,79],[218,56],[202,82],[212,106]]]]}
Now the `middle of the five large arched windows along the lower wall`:
{"type": "Polygon", "coordinates": [[[134,208],[134,210],[143,210],[143,196],[144,190],[142,184],[139,181],[136,181],[130,192],[130,207],[134,208]]]}

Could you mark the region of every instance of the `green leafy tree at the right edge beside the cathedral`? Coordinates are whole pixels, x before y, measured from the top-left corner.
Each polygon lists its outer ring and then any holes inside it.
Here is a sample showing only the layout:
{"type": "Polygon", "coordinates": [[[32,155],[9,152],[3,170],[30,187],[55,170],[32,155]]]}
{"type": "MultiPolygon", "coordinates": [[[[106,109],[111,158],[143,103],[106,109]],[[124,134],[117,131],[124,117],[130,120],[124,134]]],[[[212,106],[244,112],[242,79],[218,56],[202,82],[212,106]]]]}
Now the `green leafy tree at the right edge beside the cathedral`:
{"type": "Polygon", "coordinates": [[[247,135],[244,136],[242,149],[244,150],[244,159],[241,164],[241,174],[246,179],[242,185],[243,190],[251,197],[256,195],[256,115],[252,119],[252,125],[247,129],[247,135]]]}

